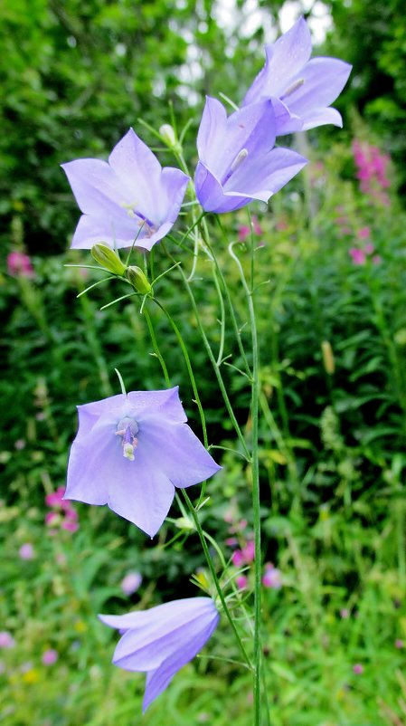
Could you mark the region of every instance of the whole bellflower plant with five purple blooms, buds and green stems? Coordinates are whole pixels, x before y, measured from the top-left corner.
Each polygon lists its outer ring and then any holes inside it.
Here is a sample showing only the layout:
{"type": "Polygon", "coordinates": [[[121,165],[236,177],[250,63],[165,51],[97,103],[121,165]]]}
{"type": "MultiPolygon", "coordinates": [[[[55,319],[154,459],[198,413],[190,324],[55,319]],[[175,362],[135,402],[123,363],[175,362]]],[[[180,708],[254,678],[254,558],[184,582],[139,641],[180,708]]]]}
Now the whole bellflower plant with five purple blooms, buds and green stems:
{"type": "MultiPolygon", "coordinates": [[[[258,248],[254,235],[250,234],[247,247],[237,246],[238,243],[228,239],[222,220],[216,215],[233,212],[252,200],[268,202],[270,196],[297,175],[307,159],[294,150],[275,147],[277,137],[324,123],[340,125],[341,117],[330,104],[343,89],[350,72],[345,62],[336,59],[309,60],[310,33],[302,18],[276,43],[267,46],[266,54],[265,67],[247,91],[241,109],[227,116],[219,100],[206,99],[197,136],[194,187],[190,185],[190,198],[183,207],[186,224],[183,232],[173,231],[172,227],[193,172],[183,156],[183,135],[178,138],[175,129],[168,125],[159,132],[151,130],[172,150],[182,170],[163,169],[132,129],[113,149],[109,163],[81,159],[63,165],[83,213],[72,246],[91,249],[100,269],[110,273],[99,282],[116,277],[130,286],[131,292],[103,307],[136,301],[137,311],[145,317],[166,385],[165,390],[127,395],[122,384],[122,394],[79,406],[79,432],[71,446],[66,496],[91,504],[107,503],[110,509],[152,536],[165,521],[175,488],[179,489],[182,496],[176,497],[176,505],[182,516],[177,526],[184,537],[197,533],[212,578],[204,586],[198,578],[195,582],[216,598],[216,604],[212,597],[194,597],[146,612],[100,616],[104,623],[117,627],[122,634],[113,662],[130,671],[146,672],[145,710],[165,690],[176,671],[200,651],[222,613],[235,636],[242,665],[252,673],[254,726],[263,723],[261,712],[269,691],[261,643],[261,589],[280,587],[279,570],[274,568],[271,583],[269,568],[267,576],[263,575],[261,557],[260,360],[255,291],[264,281],[257,278],[258,248]],[[222,230],[224,244],[241,283],[240,298],[245,302],[250,328],[250,351],[241,338],[235,302],[212,244],[212,222],[222,230]],[[164,237],[165,244],[153,249],[164,237]],[[118,254],[118,249],[123,247],[130,248],[125,261],[118,254]],[[148,256],[145,250],[151,251],[148,256]],[[183,257],[180,250],[186,253],[183,257]],[[137,260],[138,265],[130,264],[134,254],[143,254],[137,260]],[[199,395],[199,382],[194,377],[193,355],[189,353],[183,331],[167,310],[166,301],[156,291],[156,282],[162,276],[155,277],[156,254],[166,265],[162,274],[176,276],[187,291],[203,349],[238,440],[239,450],[235,453],[250,471],[253,539],[247,544],[241,564],[253,564],[253,597],[250,593],[244,595],[248,578],[241,569],[236,570],[237,563],[232,559],[227,561],[212,534],[202,527],[201,511],[210,499],[210,481],[206,486],[205,480],[220,467],[208,451],[210,431],[199,395]],[[218,293],[221,326],[218,349],[214,349],[205,330],[194,296],[192,282],[201,255],[212,264],[218,293]],[[154,305],[165,316],[168,330],[174,333],[184,358],[199,411],[203,444],[185,423],[177,388],[172,385],[161,355],[149,315],[154,305]],[[234,367],[236,375],[250,383],[249,432],[241,428],[223,377],[224,363],[228,361],[230,365],[230,356],[225,354],[227,320],[231,322],[231,336],[242,361],[242,368],[234,367]],[[199,482],[202,488],[198,501],[192,502],[185,488],[199,482]],[[263,582],[264,577],[267,579],[263,582]]],[[[251,222],[249,226],[252,231],[251,222]]]]}

